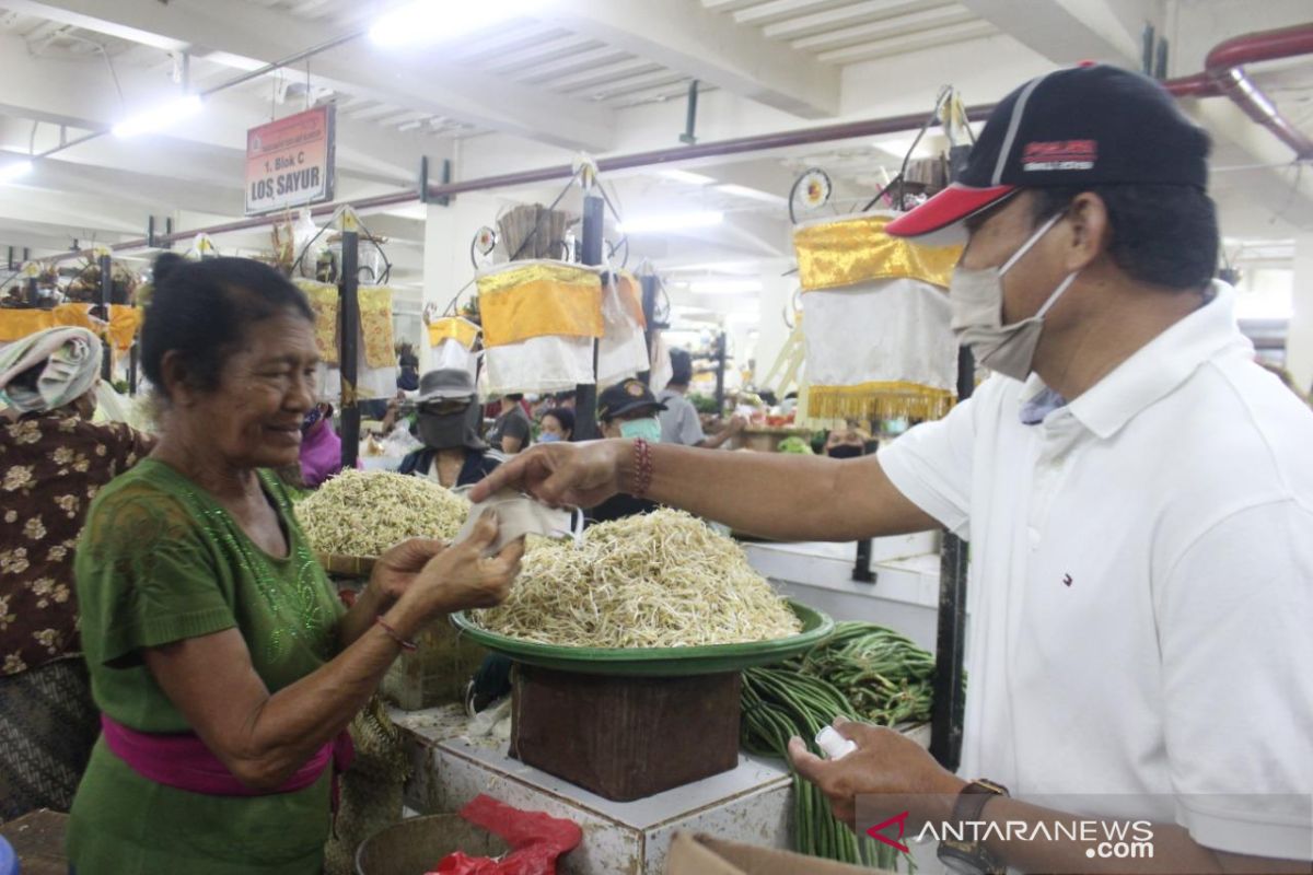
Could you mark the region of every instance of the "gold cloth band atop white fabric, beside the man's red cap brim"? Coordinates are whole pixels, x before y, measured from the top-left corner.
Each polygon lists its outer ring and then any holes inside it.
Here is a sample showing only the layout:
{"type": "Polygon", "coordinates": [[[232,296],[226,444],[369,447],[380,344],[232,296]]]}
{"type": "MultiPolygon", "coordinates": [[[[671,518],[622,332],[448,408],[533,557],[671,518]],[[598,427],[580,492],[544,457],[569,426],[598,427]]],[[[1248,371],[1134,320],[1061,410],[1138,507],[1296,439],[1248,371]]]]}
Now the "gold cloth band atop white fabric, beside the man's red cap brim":
{"type": "Polygon", "coordinates": [[[892,237],[888,215],[864,215],[793,232],[802,291],[843,289],[872,279],[920,279],[948,289],[962,247],[926,247],[892,237]]]}

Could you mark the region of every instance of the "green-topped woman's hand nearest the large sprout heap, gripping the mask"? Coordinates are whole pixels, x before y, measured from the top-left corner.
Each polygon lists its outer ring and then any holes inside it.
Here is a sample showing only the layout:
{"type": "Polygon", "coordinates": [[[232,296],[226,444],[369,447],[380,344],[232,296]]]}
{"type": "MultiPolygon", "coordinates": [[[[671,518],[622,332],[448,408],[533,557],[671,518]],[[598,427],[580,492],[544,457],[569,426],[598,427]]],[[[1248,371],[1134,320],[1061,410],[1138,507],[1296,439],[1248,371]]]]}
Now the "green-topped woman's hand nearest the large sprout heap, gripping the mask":
{"type": "Polygon", "coordinates": [[[490,559],[483,551],[496,540],[496,514],[487,512],[462,543],[431,558],[415,575],[398,607],[414,606],[424,619],[467,607],[494,607],[511,594],[520,573],[524,539],[519,538],[490,559]]]}

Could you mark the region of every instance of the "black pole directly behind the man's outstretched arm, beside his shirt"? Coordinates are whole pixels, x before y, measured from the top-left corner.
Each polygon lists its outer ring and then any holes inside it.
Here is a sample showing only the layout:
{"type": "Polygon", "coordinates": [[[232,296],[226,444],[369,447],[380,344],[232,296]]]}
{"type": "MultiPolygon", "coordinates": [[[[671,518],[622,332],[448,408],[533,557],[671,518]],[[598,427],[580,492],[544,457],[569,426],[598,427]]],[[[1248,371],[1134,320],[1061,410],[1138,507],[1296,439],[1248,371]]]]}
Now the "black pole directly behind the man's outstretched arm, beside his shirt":
{"type": "MultiPolygon", "coordinates": [[[[965,401],[976,388],[976,359],[966,346],[957,349],[957,400],[965,401]]],[[[939,631],[935,644],[935,707],[930,719],[930,753],[945,769],[956,770],[962,756],[962,718],[966,693],[962,689],[966,661],[966,573],[969,544],[944,533],[939,559],[939,631]]]]}

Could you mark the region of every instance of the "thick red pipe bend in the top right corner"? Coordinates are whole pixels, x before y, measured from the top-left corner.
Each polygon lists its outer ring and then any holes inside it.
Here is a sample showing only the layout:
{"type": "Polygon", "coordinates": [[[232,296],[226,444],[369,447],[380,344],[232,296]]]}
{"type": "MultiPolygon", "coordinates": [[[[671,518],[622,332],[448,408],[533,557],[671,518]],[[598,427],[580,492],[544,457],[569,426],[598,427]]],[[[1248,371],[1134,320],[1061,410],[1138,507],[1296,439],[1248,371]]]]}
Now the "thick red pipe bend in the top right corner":
{"type": "Polygon", "coordinates": [[[1313,157],[1313,139],[1299,130],[1245,73],[1245,64],[1313,54],[1313,24],[1234,37],[1217,43],[1204,60],[1204,72],[1163,83],[1178,97],[1221,94],[1245,114],[1295,150],[1299,159],[1313,157]]]}

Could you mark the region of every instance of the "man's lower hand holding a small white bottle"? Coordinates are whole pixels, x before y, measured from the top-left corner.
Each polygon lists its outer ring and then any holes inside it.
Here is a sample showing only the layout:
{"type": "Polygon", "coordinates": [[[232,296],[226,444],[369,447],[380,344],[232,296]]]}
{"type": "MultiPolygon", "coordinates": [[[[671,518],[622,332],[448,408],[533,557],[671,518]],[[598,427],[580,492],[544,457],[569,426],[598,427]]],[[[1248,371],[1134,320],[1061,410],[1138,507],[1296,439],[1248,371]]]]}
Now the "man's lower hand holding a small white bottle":
{"type": "Polygon", "coordinates": [[[911,809],[914,820],[948,816],[926,811],[930,796],[955,799],[966,782],[945,770],[919,744],[893,729],[852,723],[839,718],[834,728],[856,743],[857,749],[838,761],[810,753],[802,739],[789,741],[789,760],[798,774],[821,788],[834,816],[856,828],[857,796],[890,796],[890,808],[911,809]],[[924,799],[915,799],[924,798],[924,799]]]}

